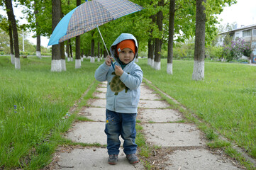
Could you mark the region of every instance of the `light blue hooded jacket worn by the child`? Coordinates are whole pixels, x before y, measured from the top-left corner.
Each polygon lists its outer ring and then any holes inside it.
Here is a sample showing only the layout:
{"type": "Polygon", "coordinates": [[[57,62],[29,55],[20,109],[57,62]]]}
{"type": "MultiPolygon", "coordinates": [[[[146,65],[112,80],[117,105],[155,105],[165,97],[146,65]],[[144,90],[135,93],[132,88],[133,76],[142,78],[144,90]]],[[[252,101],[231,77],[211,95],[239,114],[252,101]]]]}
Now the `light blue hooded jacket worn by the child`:
{"type": "MultiPolygon", "coordinates": [[[[118,55],[116,54],[116,45],[123,40],[134,40],[135,41],[135,57],[138,55],[138,42],[136,38],[128,33],[122,33],[110,47],[111,55],[117,60],[118,55]]],[[[140,100],[140,84],[143,81],[143,71],[140,69],[138,64],[135,64],[135,57],[132,62],[128,63],[126,67],[123,68],[123,74],[120,80],[126,85],[128,91],[123,89],[123,91],[116,92],[112,91],[109,83],[115,75],[113,67],[109,67],[104,62],[96,69],[95,79],[98,81],[108,81],[107,91],[106,91],[106,109],[110,111],[115,111],[118,113],[137,113],[138,102],[140,100]]],[[[114,65],[121,66],[118,62],[114,62],[114,65]]]]}

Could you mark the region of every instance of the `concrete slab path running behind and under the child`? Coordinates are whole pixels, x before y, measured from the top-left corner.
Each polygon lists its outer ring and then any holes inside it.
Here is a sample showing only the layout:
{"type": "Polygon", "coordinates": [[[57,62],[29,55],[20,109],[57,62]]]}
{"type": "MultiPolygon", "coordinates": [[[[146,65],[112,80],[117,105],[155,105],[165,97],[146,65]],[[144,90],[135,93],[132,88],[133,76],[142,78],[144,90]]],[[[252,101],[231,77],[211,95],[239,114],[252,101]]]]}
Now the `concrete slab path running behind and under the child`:
{"type": "MultiPolygon", "coordinates": [[[[243,169],[237,163],[224,156],[221,151],[206,147],[204,134],[195,125],[182,123],[182,115],[170,108],[159,95],[142,84],[138,109],[138,120],[143,126],[146,142],[155,147],[150,158],[140,157],[140,162],[131,165],[121,149],[118,164],[107,163],[105,106],[106,83],[100,84],[94,92],[96,99],[91,99],[89,107],[79,112],[80,116],[94,120],[78,122],[67,133],[73,142],[100,144],[104,147],[73,147],[60,149],[53,169],[146,169],[147,160],[152,169],[170,170],[236,170],[243,169]]],[[[94,145],[96,146],[96,145],[94,145]]],[[[139,150],[139,149],[138,149],[139,150]]]]}

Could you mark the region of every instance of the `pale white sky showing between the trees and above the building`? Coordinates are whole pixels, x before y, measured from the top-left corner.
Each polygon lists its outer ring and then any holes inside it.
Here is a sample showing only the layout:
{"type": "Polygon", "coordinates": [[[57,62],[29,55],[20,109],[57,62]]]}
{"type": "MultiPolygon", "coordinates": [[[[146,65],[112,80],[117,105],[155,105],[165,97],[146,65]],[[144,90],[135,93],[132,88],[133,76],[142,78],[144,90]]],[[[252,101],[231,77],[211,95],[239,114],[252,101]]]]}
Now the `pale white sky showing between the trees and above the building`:
{"type": "MultiPolygon", "coordinates": [[[[0,14],[6,16],[6,13],[1,10],[0,14]]],[[[21,13],[21,8],[15,9],[14,14],[16,16],[23,16],[21,13]]],[[[250,26],[256,24],[256,0],[237,0],[237,4],[232,6],[226,6],[223,12],[218,15],[221,25],[226,25],[227,23],[237,23],[238,28],[241,25],[250,26]]],[[[26,23],[26,21],[21,21],[21,23],[26,23]]],[[[30,33],[28,40],[33,44],[36,44],[36,38],[32,38],[33,33],[30,33]]],[[[48,38],[41,37],[41,45],[44,47],[48,46],[48,38]]]]}

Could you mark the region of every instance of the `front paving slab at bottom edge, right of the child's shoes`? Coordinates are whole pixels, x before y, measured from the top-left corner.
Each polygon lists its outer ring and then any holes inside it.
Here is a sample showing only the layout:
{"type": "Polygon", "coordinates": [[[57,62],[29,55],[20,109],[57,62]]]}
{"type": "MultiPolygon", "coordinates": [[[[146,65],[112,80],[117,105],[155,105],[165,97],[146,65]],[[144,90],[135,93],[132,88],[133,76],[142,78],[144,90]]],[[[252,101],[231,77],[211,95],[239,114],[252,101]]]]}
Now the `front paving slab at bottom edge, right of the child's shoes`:
{"type": "Polygon", "coordinates": [[[232,164],[228,159],[223,159],[221,156],[211,154],[206,149],[191,149],[177,150],[173,154],[168,155],[169,161],[172,164],[165,169],[207,169],[207,170],[238,170],[239,168],[232,164]]]}

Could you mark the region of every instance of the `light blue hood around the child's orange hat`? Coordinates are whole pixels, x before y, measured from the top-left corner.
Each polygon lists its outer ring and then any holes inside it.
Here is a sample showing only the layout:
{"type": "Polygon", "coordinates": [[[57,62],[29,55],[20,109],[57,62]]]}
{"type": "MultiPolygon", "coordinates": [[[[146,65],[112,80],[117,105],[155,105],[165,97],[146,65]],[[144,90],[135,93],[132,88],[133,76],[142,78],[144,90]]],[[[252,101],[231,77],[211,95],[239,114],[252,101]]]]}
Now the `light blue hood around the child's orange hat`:
{"type": "Polygon", "coordinates": [[[138,55],[138,42],[137,42],[136,38],[132,34],[129,34],[129,33],[122,33],[121,35],[119,35],[118,38],[116,38],[116,40],[113,42],[113,44],[110,47],[111,55],[114,57],[114,59],[116,61],[118,61],[116,45],[118,45],[118,43],[122,42],[123,40],[134,40],[134,42],[135,42],[135,54],[134,54],[134,59],[133,59],[133,61],[134,61],[136,56],[138,55]]]}

